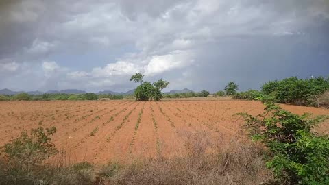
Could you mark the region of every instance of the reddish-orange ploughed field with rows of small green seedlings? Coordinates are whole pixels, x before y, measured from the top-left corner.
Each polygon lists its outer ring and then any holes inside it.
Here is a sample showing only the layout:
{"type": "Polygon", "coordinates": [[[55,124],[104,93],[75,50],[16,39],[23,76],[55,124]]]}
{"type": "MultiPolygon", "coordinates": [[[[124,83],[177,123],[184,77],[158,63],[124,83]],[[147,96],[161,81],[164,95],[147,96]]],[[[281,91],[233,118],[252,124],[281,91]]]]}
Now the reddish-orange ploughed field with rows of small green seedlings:
{"type": "MultiPolygon", "coordinates": [[[[329,110],[282,105],[303,114],[329,115],[329,110]]],[[[162,155],[184,155],[186,132],[205,130],[219,143],[241,136],[242,120],[235,113],[260,114],[257,101],[171,99],[137,101],[3,101],[0,102],[0,146],[21,130],[56,126],[53,143],[67,162],[109,160],[162,155]]],[[[328,134],[329,123],[317,131],[328,134]]]]}

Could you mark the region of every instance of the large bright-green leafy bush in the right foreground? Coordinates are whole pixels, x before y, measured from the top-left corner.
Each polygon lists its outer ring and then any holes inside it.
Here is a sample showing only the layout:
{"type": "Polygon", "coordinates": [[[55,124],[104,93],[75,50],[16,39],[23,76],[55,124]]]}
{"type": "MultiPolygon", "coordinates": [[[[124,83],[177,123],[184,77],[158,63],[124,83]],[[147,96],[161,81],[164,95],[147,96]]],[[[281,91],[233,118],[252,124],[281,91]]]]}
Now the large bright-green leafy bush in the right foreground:
{"type": "Polygon", "coordinates": [[[240,114],[254,140],[260,140],[271,151],[267,167],[282,184],[329,184],[329,139],[312,132],[313,126],[326,116],[310,119],[266,103],[258,116],[240,114]]]}

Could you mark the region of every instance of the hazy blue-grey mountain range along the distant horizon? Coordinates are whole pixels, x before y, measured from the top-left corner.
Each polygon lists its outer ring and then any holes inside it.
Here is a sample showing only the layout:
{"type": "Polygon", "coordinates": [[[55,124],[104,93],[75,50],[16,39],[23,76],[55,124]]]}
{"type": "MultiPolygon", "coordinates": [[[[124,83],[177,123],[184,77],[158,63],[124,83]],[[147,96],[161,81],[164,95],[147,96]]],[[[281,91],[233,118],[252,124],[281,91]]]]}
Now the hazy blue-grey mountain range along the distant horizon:
{"type": "MultiPolygon", "coordinates": [[[[118,92],[114,92],[111,90],[103,90],[103,91],[99,91],[97,94],[111,94],[111,95],[132,95],[134,93],[134,89],[132,90],[128,90],[127,92],[123,93],[118,93],[118,92]]],[[[193,90],[189,90],[188,88],[184,88],[182,90],[171,90],[165,94],[175,94],[175,93],[192,93],[193,90]]],[[[29,95],[43,95],[43,94],[58,94],[58,93],[65,93],[65,94],[84,94],[87,93],[84,90],[77,90],[77,89],[66,89],[66,90],[48,90],[47,92],[41,92],[39,90],[36,91],[12,91],[9,90],[8,88],[5,88],[3,90],[0,90],[0,95],[17,95],[19,93],[27,93],[29,95]]]]}

